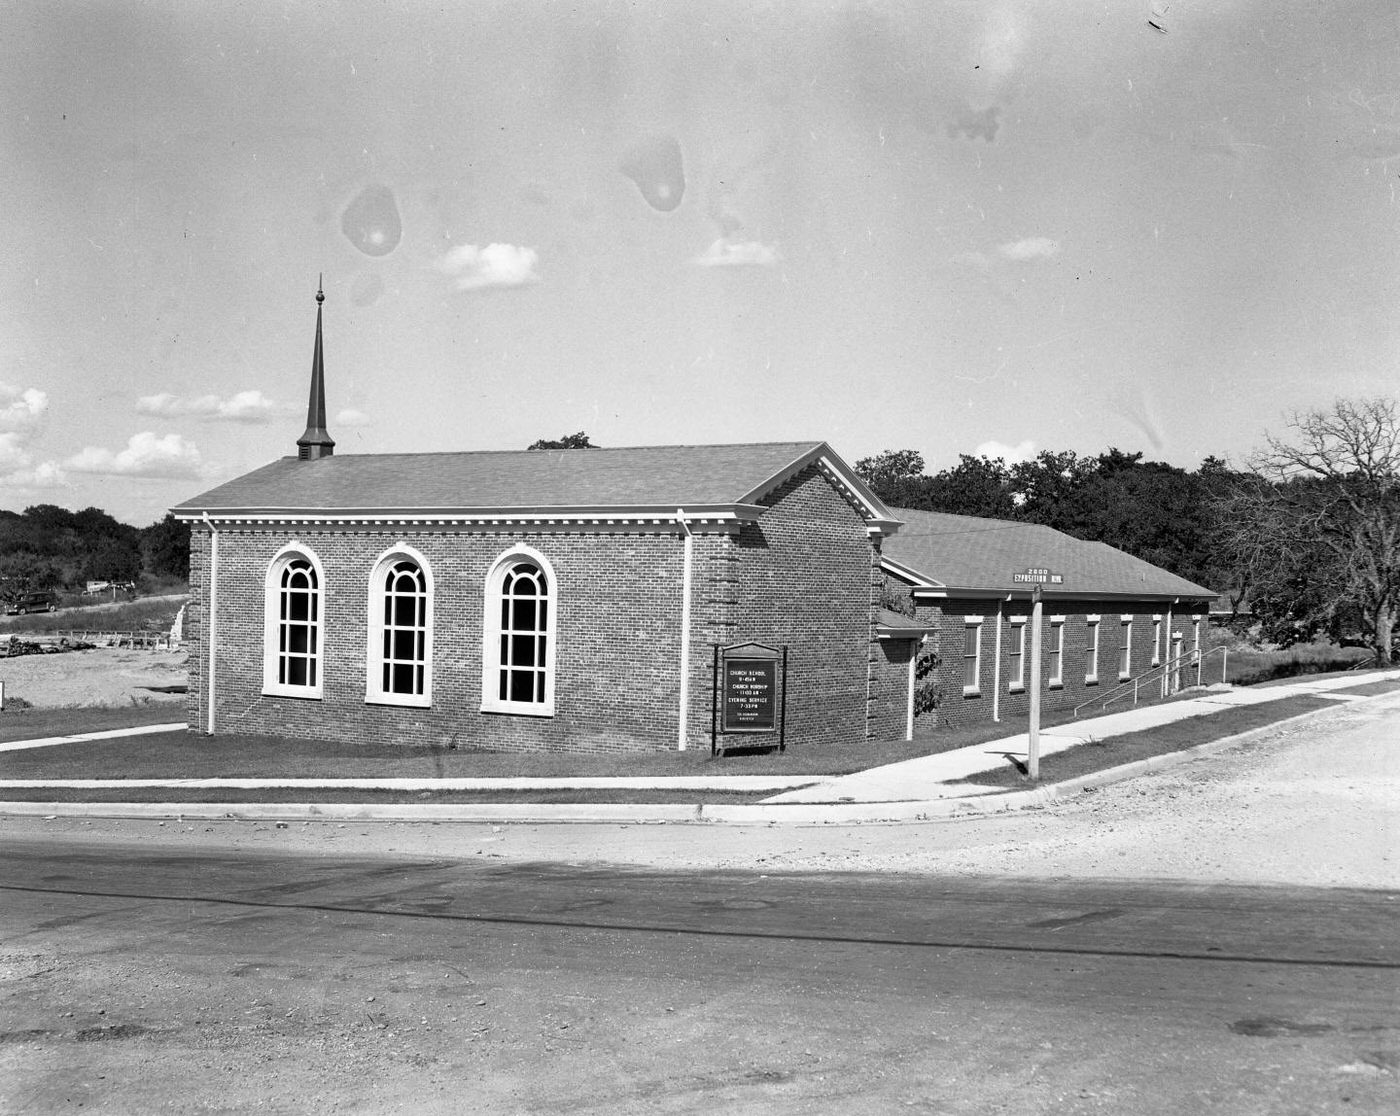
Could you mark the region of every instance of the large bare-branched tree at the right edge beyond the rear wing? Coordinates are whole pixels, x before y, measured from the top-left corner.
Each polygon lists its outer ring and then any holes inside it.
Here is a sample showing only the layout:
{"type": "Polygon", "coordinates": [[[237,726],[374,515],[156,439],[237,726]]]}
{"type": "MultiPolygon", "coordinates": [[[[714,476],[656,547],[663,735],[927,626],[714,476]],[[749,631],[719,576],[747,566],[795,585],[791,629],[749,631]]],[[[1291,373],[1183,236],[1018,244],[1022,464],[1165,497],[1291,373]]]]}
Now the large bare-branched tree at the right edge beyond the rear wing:
{"type": "Polygon", "coordinates": [[[1393,399],[1295,413],[1217,500],[1217,538],[1281,643],[1361,636],[1392,661],[1400,619],[1400,414],[1393,399]]]}

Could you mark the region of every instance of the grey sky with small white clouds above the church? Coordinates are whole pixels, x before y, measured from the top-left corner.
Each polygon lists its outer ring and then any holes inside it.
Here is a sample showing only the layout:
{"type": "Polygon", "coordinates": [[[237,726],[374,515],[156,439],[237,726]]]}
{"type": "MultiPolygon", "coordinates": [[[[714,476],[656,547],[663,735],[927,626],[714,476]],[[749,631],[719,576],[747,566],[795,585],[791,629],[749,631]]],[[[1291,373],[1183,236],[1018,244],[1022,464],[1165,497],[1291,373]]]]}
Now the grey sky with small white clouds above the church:
{"type": "Polygon", "coordinates": [[[1394,392],[1394,0],[0,0],[0,507],[295,452],[1242,462],[1394,392]]]}

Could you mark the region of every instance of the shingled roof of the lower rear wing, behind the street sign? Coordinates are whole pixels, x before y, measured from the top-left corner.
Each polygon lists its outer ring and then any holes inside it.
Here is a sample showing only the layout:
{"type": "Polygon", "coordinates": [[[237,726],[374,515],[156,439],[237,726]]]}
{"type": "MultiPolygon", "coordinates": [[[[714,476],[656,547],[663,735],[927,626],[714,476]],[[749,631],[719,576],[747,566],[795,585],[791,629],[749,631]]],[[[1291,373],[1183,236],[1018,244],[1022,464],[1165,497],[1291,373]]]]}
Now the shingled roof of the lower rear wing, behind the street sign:
{"type": "Polygon", "coordinates": [[[1042,585],[1046,598],[1215,597],[1211,590],[1107,543],[1075,539],[1050,526],[911,508],[893,512],[904,526],[885,542],[882,566],[927,595],[1000,597],[1011,591],[1023,595],[1032,585],[1014,576],[1039,567],[1064,578],[1042,585]]]}

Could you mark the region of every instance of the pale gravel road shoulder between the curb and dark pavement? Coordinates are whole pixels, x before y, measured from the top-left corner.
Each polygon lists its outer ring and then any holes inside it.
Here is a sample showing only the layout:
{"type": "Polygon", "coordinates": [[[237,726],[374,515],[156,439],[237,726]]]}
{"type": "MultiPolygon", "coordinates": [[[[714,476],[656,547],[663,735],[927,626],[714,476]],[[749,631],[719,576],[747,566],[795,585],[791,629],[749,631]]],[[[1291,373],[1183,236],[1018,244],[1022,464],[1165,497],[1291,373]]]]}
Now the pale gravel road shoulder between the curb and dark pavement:
{"type": "Polygon", "coordinates": [[[294,823],[0,818],[0,837],[307,853],[1400,888],[1400,695],[1260,730],[1246,742],[1064,802],[864,826],[294,823]]]}

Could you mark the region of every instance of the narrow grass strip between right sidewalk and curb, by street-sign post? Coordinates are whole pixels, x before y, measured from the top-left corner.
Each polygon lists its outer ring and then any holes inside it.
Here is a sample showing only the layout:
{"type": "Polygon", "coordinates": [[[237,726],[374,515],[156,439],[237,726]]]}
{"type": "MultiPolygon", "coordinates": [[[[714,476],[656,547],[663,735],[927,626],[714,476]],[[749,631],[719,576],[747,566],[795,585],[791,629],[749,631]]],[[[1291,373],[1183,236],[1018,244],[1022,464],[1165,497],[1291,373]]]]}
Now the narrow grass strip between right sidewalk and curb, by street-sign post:
{"type": "MultiPolygon", "coordinates": [[[[1390,690],[1400,689],[1400,683],[1389,685],[1390,690]]],[[[969,776],[959,783],[976,783],[979,787],[1005,787],[1008,790],[1025,790],[1026,787],[1044,786],[1047,783],[1063,783],[1067,779],[1093,774],[1109,767],[1121,767],[1124,763],[1137,763],[1140,759],[1163,756],[1169,752],[1180,752],[1194,748],[1198,744],[1208,744],[1224,737],[1233,737],[1236,732],[1247,732],[1252,728],[1296,717],[1299,713],[1312,713],[1319,709],[1336,709],[1337,702],[1317,697],[1310,693],[1282,697],[1278,702],[1266,702],[1259,706],[1236,706],[1221,713],[1207,713],[1200,717],[1187,717],[1184,721],[1158,725],[1141,732],[1128,732],[1121,737],[1105,737],[1102,741],[1081,744],[1053,756],[1040,760],[1040,780],[1032,783],[1029,777],[1012,765],[997,767],[990,772],[969,776]]]]}

